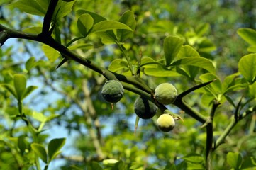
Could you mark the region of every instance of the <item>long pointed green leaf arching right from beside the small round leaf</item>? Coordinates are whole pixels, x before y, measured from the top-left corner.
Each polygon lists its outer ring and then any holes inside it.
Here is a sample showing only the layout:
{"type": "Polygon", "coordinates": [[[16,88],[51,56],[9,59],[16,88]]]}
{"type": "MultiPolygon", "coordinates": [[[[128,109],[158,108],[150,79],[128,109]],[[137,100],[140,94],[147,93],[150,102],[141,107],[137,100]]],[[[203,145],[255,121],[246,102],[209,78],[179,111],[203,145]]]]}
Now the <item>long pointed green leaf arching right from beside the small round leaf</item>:
{"type": "Polygon", "coordinates": [[[115,29],[125,29],[133,31],[130,27],[126,26],[126,24],[120,23],[118,21],[100,21],[99,23],[96,23],[94,25],[90,33],[99,33],[104,32],[106,30],[115,29]]]}

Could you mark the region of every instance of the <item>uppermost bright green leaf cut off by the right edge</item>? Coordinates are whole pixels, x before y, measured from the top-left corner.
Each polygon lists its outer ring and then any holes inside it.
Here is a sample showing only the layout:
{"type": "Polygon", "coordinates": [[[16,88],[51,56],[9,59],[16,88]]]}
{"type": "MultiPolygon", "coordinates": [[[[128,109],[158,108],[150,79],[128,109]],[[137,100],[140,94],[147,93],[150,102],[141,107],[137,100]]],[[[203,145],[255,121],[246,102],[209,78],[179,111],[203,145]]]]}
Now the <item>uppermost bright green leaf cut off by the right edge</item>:
{"type": "Polygon", "coordinates": [[[250,45],[256,45],[256,30],[251,28],[239,28],[237,33],[250,45]]]}

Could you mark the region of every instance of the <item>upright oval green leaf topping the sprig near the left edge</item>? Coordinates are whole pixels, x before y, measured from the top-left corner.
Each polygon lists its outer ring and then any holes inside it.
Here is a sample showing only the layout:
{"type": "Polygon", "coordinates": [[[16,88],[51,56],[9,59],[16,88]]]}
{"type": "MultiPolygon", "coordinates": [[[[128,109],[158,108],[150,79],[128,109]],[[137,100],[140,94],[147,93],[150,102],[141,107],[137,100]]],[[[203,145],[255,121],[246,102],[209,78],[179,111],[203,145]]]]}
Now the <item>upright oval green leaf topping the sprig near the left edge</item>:
{"type": "Polygon", "coordinates": [[[26,90],[27,79],[23,74],[14,74],[13,82],[17,94],[17,99],[18,101],[21,101],[23,99],[23,94],[26,90]]]}

